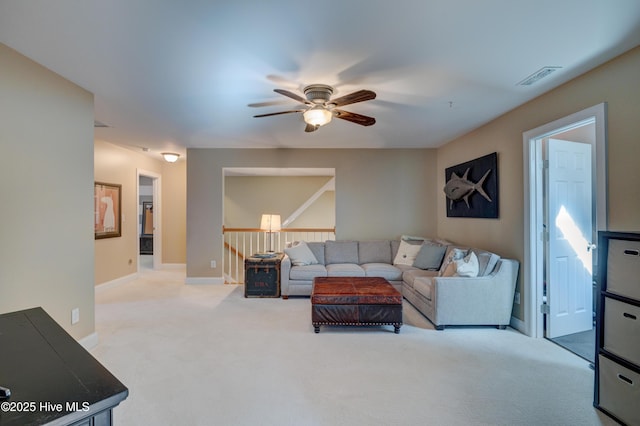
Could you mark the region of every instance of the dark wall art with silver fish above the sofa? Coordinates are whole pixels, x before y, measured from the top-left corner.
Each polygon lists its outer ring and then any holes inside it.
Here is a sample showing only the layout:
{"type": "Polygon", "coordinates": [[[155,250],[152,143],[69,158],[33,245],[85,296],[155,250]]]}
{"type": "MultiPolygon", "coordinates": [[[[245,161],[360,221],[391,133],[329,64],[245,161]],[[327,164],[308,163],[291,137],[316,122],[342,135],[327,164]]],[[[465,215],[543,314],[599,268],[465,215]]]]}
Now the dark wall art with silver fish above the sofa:
{"type": "Polygon", "coordinates": [[[447,217],[498,217],[498,153],[445,169],[447,217]]]}

